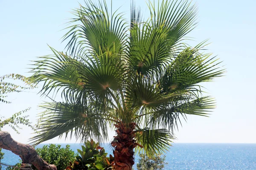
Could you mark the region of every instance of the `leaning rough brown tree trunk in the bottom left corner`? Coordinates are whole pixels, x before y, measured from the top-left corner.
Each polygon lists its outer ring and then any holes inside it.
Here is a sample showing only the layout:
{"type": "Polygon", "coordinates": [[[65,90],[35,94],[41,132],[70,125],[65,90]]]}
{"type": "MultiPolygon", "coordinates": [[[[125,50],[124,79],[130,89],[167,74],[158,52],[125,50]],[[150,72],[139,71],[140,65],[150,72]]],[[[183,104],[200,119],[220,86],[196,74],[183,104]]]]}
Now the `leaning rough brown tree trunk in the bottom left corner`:
{"type": "Polygon", "coordinates": [[[38,170],[57,170],[55,165],[41,159],[34,147],[13,140],[8,132],[0,131],[0,147],[11,150],[12,153],[20,156],[23,163],[33,164],[38,170]]]}

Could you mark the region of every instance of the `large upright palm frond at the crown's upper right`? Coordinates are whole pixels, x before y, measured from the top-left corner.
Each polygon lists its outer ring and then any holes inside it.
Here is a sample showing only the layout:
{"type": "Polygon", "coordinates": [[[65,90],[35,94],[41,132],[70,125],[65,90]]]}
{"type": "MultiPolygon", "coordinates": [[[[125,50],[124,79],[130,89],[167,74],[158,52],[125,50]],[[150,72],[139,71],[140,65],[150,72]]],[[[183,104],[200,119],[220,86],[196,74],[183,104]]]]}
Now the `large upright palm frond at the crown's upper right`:
{"type": "Polygon", "coordinates": [[[187,0],[162,1],[158,9],[149,2],[148,8],[151,17],[142,23],[137,19],[130,30],[127,61],[137,74],[149,76],[160,73],[163,66],[176,57],[183,46],[180,41],[195,27],[197,12],[187,0]]]}

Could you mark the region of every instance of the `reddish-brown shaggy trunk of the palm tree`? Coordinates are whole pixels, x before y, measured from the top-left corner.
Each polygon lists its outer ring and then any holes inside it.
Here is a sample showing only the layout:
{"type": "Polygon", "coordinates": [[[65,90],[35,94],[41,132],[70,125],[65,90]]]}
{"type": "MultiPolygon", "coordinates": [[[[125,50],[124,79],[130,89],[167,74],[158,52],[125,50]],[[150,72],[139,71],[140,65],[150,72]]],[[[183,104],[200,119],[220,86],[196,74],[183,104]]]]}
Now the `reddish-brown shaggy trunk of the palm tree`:
{"type": "Polygon", "coordinates": [[[134,140],[135,137],[135,123],[125,124],[118,123],[115,125],[116,136],[111,145],[115,147],[114,154],[114,168],[115,170],[132,170],[134,165],[134,148],[136,146],[142,147],[134,140]]]}

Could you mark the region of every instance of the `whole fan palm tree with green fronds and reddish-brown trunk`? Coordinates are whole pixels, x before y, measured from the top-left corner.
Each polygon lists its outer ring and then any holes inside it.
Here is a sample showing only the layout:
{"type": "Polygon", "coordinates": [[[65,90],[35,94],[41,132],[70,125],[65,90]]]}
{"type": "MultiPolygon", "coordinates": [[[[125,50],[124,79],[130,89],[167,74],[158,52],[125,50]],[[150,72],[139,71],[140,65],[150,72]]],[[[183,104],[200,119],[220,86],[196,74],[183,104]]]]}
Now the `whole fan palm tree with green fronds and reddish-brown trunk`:
{"type": "MultiPolygon", "coordinates": [[[[112,8],[111,8],[112,9],[112,8]]],[[[196,26],[197,9],[187,0],[148,3],[150,17],[131,5],[131,22],[108,10],[106,2],[74,10],[64,40],[67,53],[34,62],[30,82],[43,82],[41,94],[62,102],[41,105],[35,144],[65,134],[104,141],[114,129],[115,169],[131,170],[135,151],[149,156],[171,145],[186,114],[207,116],[215,108],[201,82],[220,77],[218,59],[194,48],[184,37],[196,26]]]]}

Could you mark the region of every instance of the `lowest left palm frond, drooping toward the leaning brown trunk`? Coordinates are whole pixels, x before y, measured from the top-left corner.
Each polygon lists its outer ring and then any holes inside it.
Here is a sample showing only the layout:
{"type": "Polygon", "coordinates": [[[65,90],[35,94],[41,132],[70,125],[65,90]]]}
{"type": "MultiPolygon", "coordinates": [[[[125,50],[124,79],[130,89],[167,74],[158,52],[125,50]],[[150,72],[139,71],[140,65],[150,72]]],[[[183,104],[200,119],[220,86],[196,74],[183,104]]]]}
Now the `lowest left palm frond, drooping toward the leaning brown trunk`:
{"type": "MultiPolygon", "coordinates": [[[[38,122],[38,134],[32,137],[31,142],[39,144],[57,136],[76,137],[81,141],[96,139],[103,141],[108,138],[107,122],[104,116],[99,116],[91,108],[85,108],[79,104],[62,102],[47,102],[41,105],[46,109],[41,113],[38,122]]],[[[107,118],[111,119],[111,118],[107,118]]],[[[113,120],[114,121],[114,120],[113,120]]]]}

